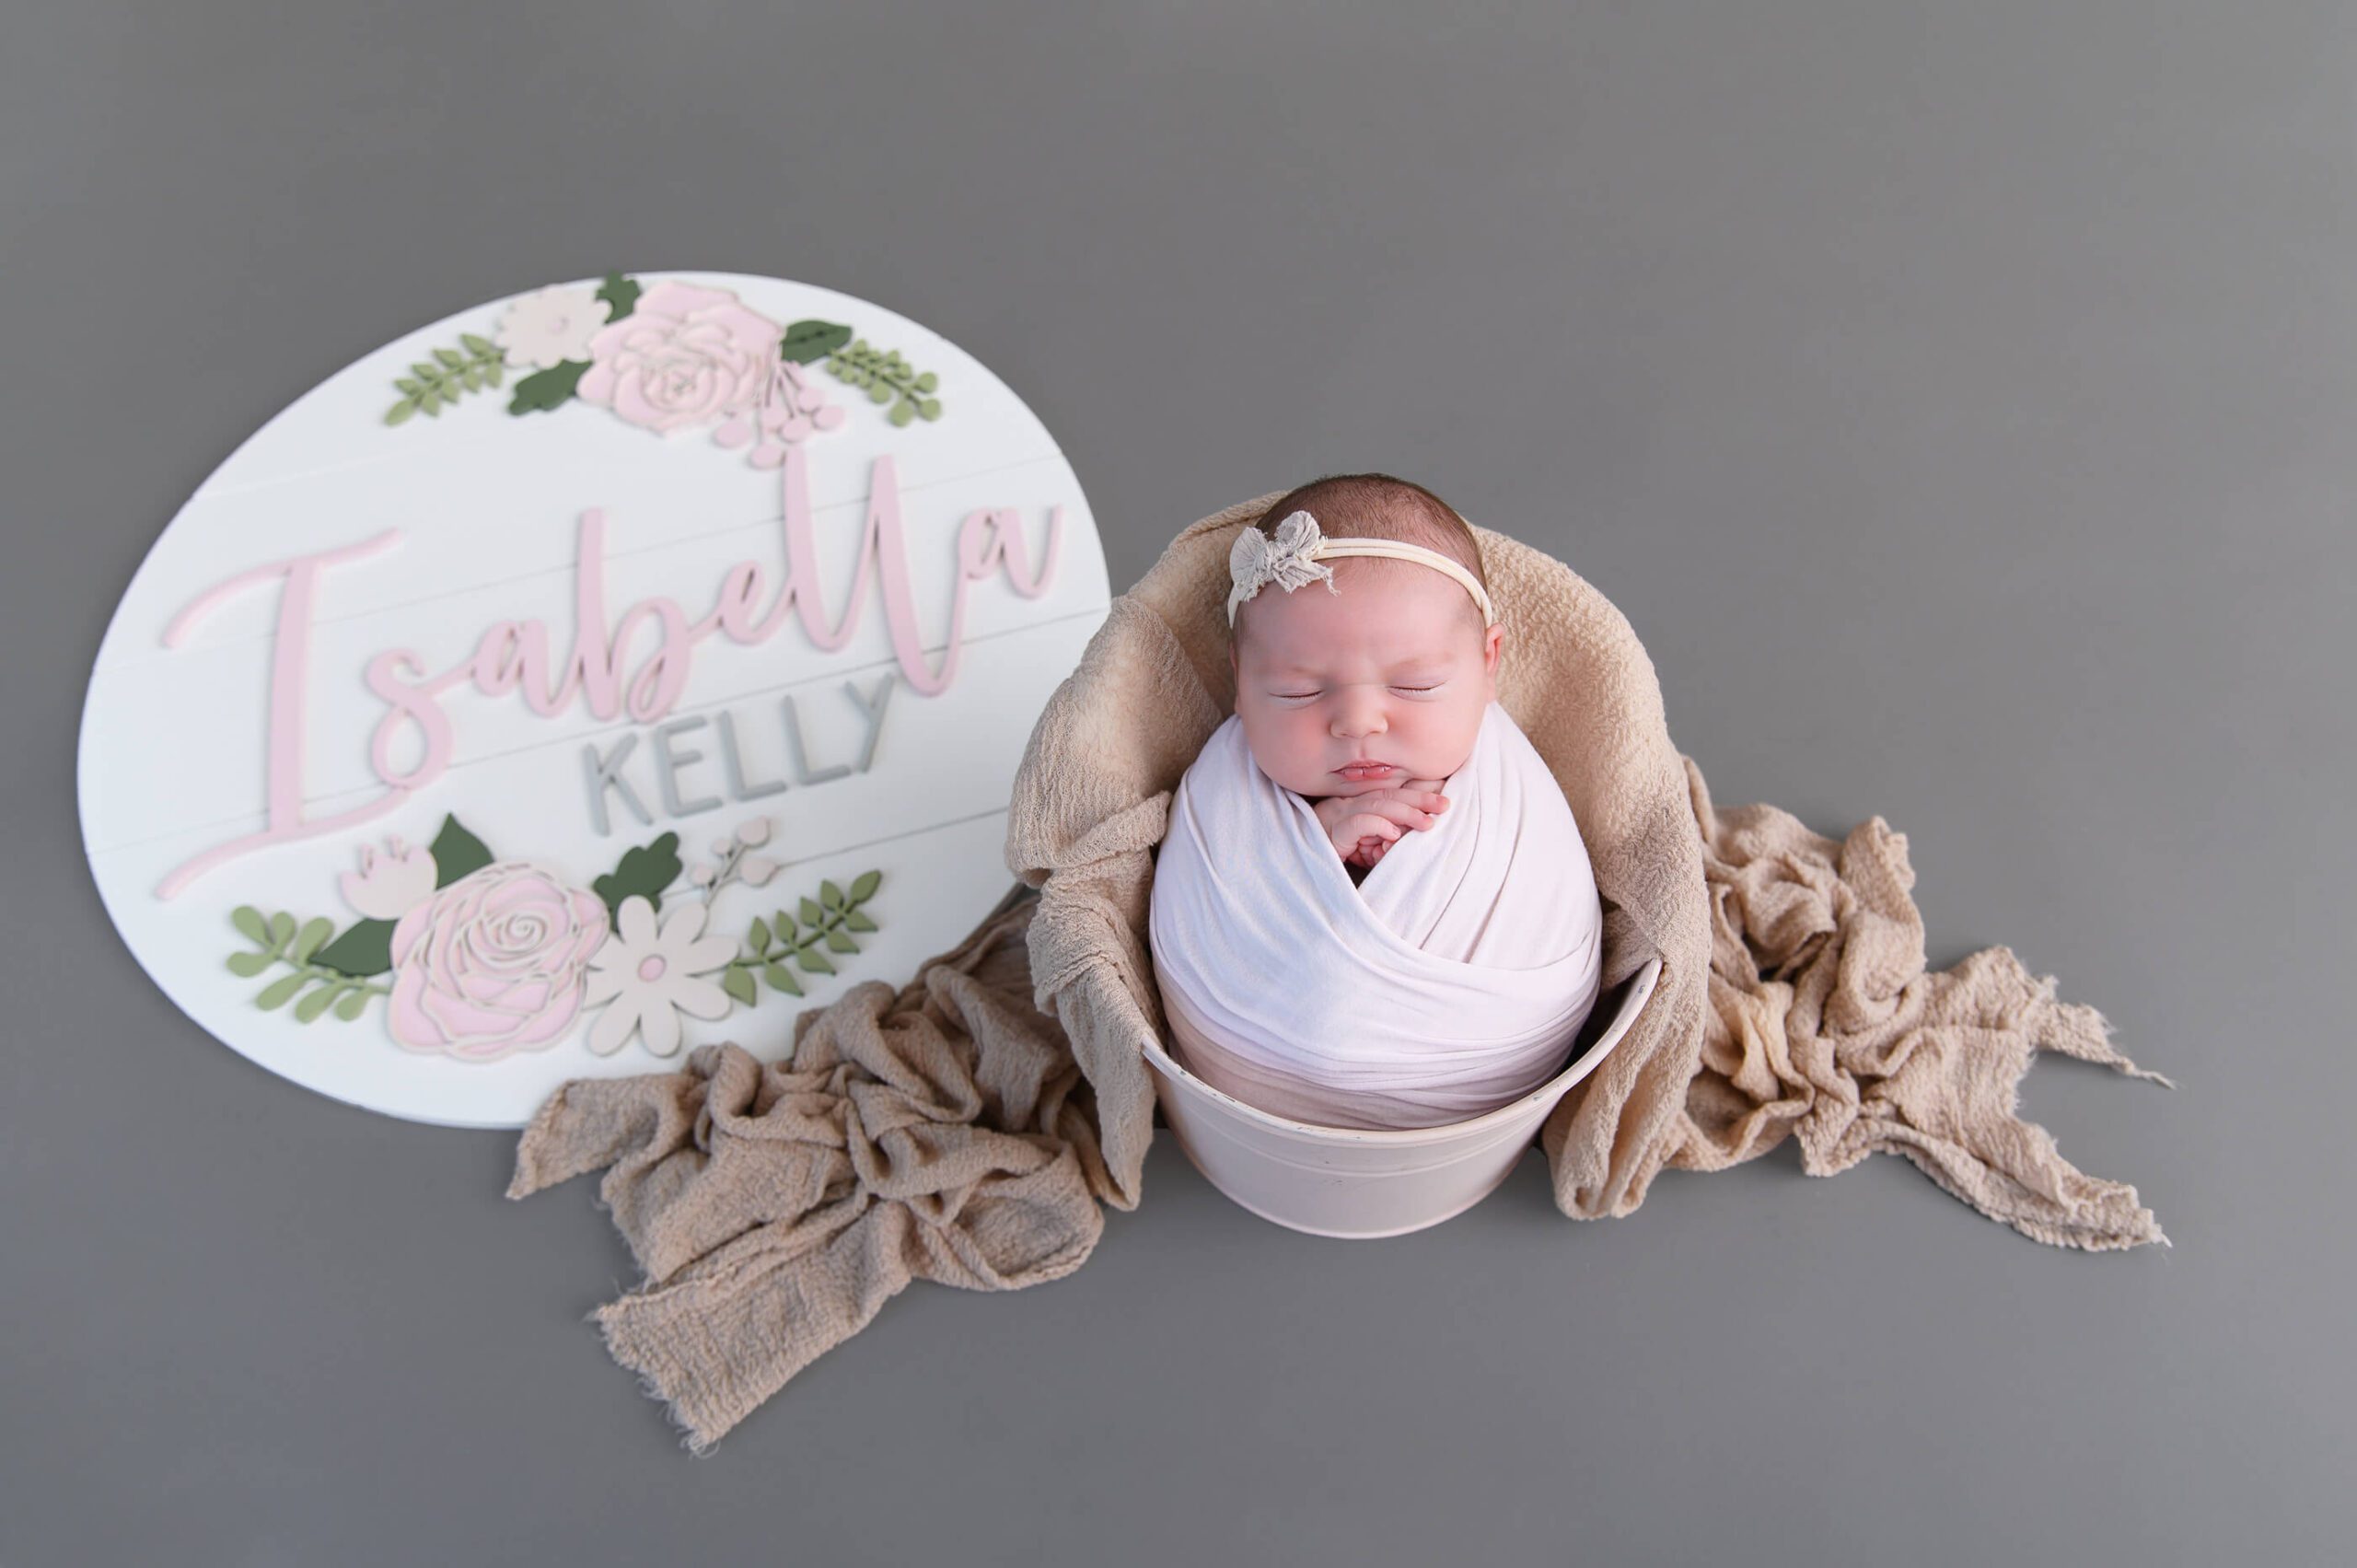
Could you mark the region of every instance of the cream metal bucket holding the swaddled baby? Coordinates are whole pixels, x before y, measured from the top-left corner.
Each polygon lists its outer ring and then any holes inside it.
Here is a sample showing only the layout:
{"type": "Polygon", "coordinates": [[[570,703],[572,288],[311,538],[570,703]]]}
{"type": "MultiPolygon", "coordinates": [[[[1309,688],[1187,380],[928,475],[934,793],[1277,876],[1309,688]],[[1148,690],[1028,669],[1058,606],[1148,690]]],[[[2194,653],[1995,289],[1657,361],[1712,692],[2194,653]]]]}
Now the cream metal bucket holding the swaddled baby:
{"type": "Polygon", "coordinates": [[[1596,1000],[1567,1068],[1518,1101],[1445,1127],[1315,1127],[1221,1094],[1178,1066],[1160,1040],[1146,1042],[1146,1061],[1178,1148],[1221,1193],[1310,1236],[1405,1236],[1464,1214],[1513,1174],[1556,1101],[1645,1012],[1659,974],[1662,960],[1648,960],[1617,1002],[1612,993],[1596,1000]]]}

